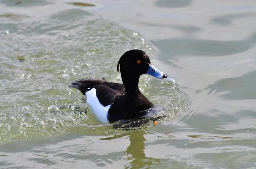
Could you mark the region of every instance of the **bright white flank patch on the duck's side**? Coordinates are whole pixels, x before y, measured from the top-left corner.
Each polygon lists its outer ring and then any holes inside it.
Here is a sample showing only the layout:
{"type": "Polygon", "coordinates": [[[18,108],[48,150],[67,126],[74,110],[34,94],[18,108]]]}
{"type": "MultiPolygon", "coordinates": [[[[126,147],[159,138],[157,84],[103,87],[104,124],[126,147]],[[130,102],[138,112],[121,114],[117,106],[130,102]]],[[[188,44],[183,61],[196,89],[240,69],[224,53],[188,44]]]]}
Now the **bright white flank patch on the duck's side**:
{"type": "Polygon", "coordinates": [[[100,104],[99,99],[96,96],[95,88],[92,88],[91,90],[85,92],[85,95],[87,97],[89,111],[91,113],[94,113],[102,123],[108,123],[107,115],[111,104],[108,106],[103,106],[102,104],[100,104]]]}

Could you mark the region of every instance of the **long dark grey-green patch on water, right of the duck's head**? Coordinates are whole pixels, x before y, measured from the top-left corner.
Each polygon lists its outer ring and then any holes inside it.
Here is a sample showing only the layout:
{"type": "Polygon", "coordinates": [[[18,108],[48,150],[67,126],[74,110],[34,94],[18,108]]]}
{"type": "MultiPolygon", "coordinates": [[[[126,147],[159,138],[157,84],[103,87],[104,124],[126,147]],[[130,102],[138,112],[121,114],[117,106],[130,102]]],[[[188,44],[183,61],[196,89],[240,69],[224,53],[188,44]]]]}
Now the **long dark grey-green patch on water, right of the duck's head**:
{"type": "MultiPolygon", "coordinates": [[[[218,41],[203,39],[165,39],[153,41],[159,45],[160,51],[173,51],[175,57],[179,56],[225,56],[247,51],[253,48],[255,33],[244,40],[218,41]],[[166,45],[168,44],[168,45],[166,45]]],[[[167,56],[161,59],[169,60],[167,56]]]]}

